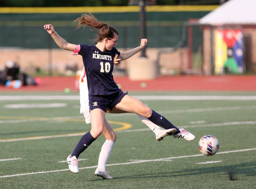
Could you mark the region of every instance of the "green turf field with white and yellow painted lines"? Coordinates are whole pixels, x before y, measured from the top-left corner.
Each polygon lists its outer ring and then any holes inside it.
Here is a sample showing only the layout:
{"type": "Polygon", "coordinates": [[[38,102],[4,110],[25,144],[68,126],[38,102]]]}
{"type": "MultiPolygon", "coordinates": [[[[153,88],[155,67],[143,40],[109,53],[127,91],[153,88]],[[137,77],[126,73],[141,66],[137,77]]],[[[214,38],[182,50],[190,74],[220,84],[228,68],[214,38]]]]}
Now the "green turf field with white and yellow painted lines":
{"type": "Polygon", "coordinates": [[[78,174],[71,173],[66,162],[59,162],[66,160],[82,133],[90,130],[79,114],[79,100],[19,100],[24,95],[68,97],[78,93],[1,92],[0,188],[255,188],[256,100],[250,97],[256,92],[129,94],[243,95],[248,99],[142,100],[174,125],[193,133],[196,139],[192,142],[169,136],[158,142],[137,115],[107,114],[117,129],[117,141],[107,167],[114,179],[105,180],[94,176],[103,136],[79,156],[86,160],[79,161],[78,174]],[[6,96],[17,99],[4,99],[6,96]],[[206,134],[220,142],[219,152],[209,157],[199,155],[198,149],[198,140],[206,134]]]}

